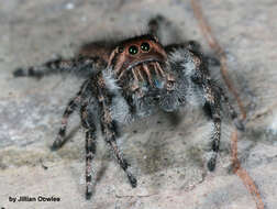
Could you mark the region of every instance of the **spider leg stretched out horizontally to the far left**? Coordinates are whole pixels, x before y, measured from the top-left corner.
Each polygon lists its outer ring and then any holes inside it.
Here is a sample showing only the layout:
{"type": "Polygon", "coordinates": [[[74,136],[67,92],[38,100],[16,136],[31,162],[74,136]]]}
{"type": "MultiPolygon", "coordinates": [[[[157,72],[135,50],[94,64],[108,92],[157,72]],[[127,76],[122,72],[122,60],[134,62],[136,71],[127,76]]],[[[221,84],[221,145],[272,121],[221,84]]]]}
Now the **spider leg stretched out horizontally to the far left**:
{"type": "Polygon", "coordinates": [[[71,59],[53,59],[40,66],[18,68],[13,72],[14,77],[34,77],[42,78],[52,74],[74,74],[78,77],[88,77],[97,69],[106,66],[106,62],[100,57],[85,57],[71,59]]]}

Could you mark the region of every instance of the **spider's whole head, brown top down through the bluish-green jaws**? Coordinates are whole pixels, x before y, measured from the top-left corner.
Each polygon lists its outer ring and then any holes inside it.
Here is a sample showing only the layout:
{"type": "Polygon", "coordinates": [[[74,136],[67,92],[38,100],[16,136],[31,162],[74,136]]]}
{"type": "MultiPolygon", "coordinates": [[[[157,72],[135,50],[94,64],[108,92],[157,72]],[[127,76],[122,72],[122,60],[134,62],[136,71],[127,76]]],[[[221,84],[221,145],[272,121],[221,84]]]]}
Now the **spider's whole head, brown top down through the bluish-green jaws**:
{"type": "Polygon", "coordinates": [[[112,51],[108,65],[114,70],[119,85],[138,97],[166,87],[170,80],[166,66],[167,54],[152,35],[121,42],[112,51]]]}

